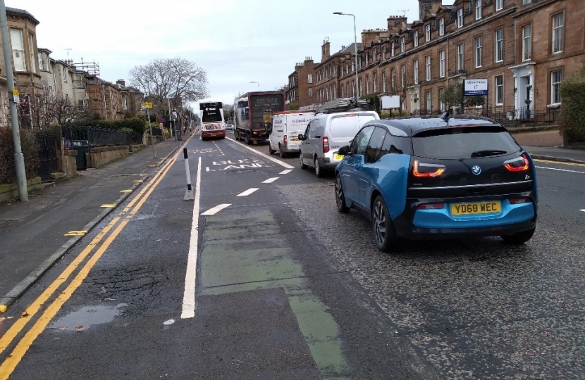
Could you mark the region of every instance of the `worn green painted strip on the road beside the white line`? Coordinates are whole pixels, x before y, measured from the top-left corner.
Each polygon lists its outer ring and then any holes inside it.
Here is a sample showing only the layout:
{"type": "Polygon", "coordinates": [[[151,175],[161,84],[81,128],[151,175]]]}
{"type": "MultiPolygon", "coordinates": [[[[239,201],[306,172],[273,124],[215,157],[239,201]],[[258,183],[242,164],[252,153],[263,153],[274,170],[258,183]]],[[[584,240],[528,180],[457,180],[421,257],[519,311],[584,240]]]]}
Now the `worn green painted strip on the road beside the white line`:
{"type": "MultiPolygon", "coordinates": [[[[240,210],[241,211],[241,210],[240,210]]],[[[270,210],[208,216],[204,224],[198,296],[282,288],[324,379],[346,379],[338,324],[311,291],[270,210]],[[247,237],[253,236],[253,237],[247,237]]]]}

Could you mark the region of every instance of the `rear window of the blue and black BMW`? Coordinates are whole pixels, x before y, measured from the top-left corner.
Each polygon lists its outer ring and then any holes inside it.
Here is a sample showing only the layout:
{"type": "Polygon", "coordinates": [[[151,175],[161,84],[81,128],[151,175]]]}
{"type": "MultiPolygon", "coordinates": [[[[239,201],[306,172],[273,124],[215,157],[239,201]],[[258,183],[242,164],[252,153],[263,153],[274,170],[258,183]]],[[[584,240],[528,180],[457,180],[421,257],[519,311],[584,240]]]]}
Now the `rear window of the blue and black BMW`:
{"type": "Polygon", "coordinates": [[[467,126],[429,129],[412,137],[414,156],[472,158],[519,151],[520,146],[501,126],[467,126]]]}

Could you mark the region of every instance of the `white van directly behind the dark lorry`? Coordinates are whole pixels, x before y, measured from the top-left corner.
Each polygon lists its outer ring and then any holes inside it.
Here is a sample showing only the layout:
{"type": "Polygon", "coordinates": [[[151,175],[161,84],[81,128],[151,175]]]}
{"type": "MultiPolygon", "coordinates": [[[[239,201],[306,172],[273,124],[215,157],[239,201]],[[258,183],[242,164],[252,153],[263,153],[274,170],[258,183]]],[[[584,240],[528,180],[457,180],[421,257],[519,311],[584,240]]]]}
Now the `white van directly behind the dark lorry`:
{"type": "Polygon", "coordinates": [[[314,118],[312,110],[294,110],[274,113],[272,116],[272,132],[269,137],[269,152],[283,157],[287,153],[299,153],[299,134],[304,132],[314,118]]]}

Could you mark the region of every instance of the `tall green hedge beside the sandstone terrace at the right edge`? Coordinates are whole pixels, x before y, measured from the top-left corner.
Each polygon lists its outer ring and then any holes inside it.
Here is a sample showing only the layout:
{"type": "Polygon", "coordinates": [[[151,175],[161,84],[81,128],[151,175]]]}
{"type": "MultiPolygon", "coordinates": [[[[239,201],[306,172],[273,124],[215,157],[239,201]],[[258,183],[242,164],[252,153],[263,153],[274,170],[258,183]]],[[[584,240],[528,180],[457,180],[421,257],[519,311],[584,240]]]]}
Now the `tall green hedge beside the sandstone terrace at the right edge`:
{"type": "Polygon", "coordinates": [[[568,143],[585,142],[585,66],[560,84],[559,129],[568,143]]]}

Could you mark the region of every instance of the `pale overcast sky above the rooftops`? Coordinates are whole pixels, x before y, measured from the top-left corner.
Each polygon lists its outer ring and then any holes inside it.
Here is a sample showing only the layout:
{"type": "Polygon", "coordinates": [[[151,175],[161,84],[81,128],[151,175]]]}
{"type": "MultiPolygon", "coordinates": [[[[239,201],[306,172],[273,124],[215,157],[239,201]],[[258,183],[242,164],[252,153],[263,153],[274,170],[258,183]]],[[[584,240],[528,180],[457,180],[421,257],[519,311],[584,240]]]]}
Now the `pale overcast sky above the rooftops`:
{"type": "MultiPolygon", "coordinates": [[[[418,0],[6,0],[40,24],[39,48],[51,58],[99,63],[101,78],[125,79],[137,65],[180,56],[207,70],[211,97],[233,103],[238,93],[288,84],[295,63],[321,61],[357,41],[364,29],[386,28],[390,15],[419,18],[418,0]],[[156,4],[156,5],[155,5],[156,4]],[[70,49],[70,50],[67,50],[70,49]]],[[[452,1],[444,4],[452,4],[452,1]]]]}

